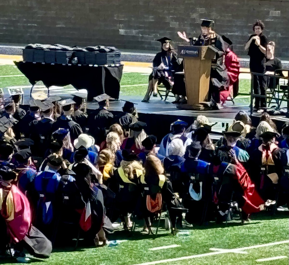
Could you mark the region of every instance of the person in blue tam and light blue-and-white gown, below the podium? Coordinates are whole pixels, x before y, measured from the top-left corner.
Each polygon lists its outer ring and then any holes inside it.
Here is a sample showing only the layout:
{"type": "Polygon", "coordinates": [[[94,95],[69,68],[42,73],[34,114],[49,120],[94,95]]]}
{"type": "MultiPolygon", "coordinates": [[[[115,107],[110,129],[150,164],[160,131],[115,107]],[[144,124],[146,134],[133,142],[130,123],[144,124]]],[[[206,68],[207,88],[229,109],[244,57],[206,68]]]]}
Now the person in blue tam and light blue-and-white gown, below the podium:
{"type": "Polygon", "coordinates": [[[171,129],[173,130],[172,133],[167,134],[160,143],[160,149],[158,151],[158,154],[162,156],[168,156],[168,147],[171,144],[171,141],[173,139],[179,138],[183,141],[184,147],[187,147],[192,143],[192,139],[187,138],[184,135],[184,132],[186,130],[186,126],[188,124],[184,121],[177,120],[171,124],[171,129]]]}

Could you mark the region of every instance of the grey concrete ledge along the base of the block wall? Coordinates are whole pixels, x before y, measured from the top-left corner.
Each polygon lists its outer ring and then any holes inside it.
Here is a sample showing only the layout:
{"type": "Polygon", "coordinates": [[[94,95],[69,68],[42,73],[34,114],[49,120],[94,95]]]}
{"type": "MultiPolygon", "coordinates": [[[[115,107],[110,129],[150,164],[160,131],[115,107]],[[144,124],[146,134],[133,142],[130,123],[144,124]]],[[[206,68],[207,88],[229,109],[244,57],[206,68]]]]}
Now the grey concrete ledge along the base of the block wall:
{"type": "MultiPolygon", "coordinates": [[[[22,49],[24,46],[0,45],[0,54],[22,55],[22,49]]],[[[122,50],[121,61],[152,63],[155,54],[156,52],[153,51],[122,50]]],[[[249,57],[239,58],[239,60],[242,68],[249,68],[249,57]]],[[[283,69],[289,69],[288,60],[281,60],[281,62],[283,69]]]]}

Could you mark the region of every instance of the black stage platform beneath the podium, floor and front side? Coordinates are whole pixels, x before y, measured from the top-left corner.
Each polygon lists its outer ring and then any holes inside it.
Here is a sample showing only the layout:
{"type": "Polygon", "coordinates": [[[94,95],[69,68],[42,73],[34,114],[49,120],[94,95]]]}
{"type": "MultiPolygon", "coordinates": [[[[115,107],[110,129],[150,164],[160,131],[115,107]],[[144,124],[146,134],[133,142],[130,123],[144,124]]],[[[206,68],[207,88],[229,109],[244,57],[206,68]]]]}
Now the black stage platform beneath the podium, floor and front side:
{"type": "MultiPolygon", "coordinates": [[[[123,96],[122,99],[138,104],[136,109],[139,120],[147,123],[147,133],[157,136],[158,142],[170,132],[170,124],[177,119],[184,120],[190,125],[197,115],[204,115],[208,117],[210,122],[217,122],[212,130],[222,133],[233,122],[238,111],[245,110],[249,113],[250,110],[249,105],[233,105],[231,102],[228,103],[228,107],[221,110],[191,111],[177,109],[177,105],[161,101],[158,98],[151,99],[149,103],[141,102],[142,98],[139,97],[123,96]]],[[[108,110],[116,114],[122,111],[123,105],[124,101],[110,102],[108,110]]],[[[97,103],[87,103],[88,113],[96,108],[98,108],[97,103]]],[[[261,115],[260,113],[253,113],[251,116],[253,126],[257,126],[261,115]]],[[[289,122],[288,118],[282,116],[272,116],[272,119],[276,122],[278,129],[281,129],[284,122],[289,122]]],[[[215,137],[219,138],[220,136],[215,137]]]]}

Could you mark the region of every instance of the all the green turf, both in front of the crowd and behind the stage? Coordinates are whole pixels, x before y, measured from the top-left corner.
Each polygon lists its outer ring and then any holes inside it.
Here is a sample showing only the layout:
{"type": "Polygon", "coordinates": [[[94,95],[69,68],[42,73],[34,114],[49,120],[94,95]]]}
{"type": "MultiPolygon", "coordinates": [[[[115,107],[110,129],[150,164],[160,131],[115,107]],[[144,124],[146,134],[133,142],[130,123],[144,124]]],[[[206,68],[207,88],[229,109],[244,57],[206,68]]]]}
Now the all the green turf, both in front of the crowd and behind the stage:
{"type": "MultiPolygon", "coordinates": [[[[11,65],[0,66],[0,76],[20,74],[16,67],[11,65]]],[[[147,79],[148,75],[145,74],[124,73],[121,80],[121,95],[143,95],[147,90],[147,86],[141,84],[147,84],[147,79]],[[139,84],[139,86],[130,86],[136,84],[139,84]]],[[[25,85],[29,85],[26,77],[0,77],[0,88],[25,85]]],[[[240,80],[240,92],[248,93],[249,88],[250,80],[240,80]]],[[[236,101],[249,103],[249,98],[240,96],[236,101]]],[[[270,216],[268,212],[261,212],[253,215],[251,221],[244,225],[241,225],[239,220],[218,225],[210,222],[203,226],[194,226],[192,229],[186,230],[188,234],[177,234],[175,236],[170,235],[168,231],[162,228],[156,238],[140,231],[141,227],[136,232],[129,233],[124,232],[121,228],[116,229],[114,234],[108,237],[108,240],[126,240],[119,245],[99,248],[84,247],[81,246],[82,241],[80,241],[77,249],[72,247],[57,247],[53,249],[53,253],[49,259],[40,260],[31,258],[31,263],[35,265],[134,265],[146,262],[149,262],[149,264],[166,265],[288,264],[288,242],[258,246],[288,241],[288,211],[278,211],[274,217],[270,216]],[[178,246],[158,251],[149,250],[153,247],[168,245],[178,246]],[[248,249],[249,246],[257,247],[248,249]],[[212,248],[222,250],[210,250],[212,248]],[[236,250],[231,252],[229,250],[236,248],[243,249],[239,253],[234,253],[236,250]],[[175,261],[170,260],[188,256],[193,257],[175,261]],[[264,262],[257,261],[258,259],[276,256],[286,256],[286,258],[264,262]]],[[[0,260],[0,264],[11,264],[11,262],[13,261],[10,259],[0,260]]]]}

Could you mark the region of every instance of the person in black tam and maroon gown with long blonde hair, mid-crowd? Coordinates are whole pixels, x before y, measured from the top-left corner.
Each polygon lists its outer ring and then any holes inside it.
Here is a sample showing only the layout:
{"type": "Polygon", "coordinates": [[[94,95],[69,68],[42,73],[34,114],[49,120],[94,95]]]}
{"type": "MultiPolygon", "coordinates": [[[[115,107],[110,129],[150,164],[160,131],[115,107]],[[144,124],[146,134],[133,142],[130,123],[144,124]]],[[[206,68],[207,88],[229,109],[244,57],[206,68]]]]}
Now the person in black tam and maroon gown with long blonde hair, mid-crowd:
{"type": "Polygon", "coordinates": [[[129,150],[138,155],[143,149],[142,141],[147,138],[147,133],[144,131],[146,126],[147,124],[145,122],[140,121],[130,124],[130,136],[123,140],[121,149],[129,150]]]}

